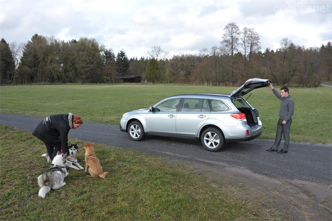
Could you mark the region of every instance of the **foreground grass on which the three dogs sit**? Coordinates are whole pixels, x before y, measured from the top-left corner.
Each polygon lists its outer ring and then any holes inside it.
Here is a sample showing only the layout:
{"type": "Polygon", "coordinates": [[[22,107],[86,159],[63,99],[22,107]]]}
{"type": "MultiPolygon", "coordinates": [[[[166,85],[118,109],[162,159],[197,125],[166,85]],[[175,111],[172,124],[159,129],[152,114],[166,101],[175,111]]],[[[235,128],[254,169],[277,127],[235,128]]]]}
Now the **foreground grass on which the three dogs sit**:
{"type": "MultiPolygon", "coordinates": [[[[42,199],[37,177],[49,168],[40,157],[45,146],[31,131],[1,125],[0,133],[0,220],[292,219],[274,209],[275,201],[225,177],[211,179],[178,161],[104,144],[95,144],[95,152],[110,173],[106,179],[70,169],[66,185],[42,199]]],[[[81,160],[83,141],[77,141],[81,160]]]]}

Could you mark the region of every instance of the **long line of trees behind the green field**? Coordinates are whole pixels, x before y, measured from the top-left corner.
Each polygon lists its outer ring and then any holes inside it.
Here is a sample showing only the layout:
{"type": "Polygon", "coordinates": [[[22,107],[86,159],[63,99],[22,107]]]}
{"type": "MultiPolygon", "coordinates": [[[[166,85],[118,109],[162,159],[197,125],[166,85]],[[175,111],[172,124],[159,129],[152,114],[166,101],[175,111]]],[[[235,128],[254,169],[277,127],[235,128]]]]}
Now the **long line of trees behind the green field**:
{"type": "Polygon", "coordinates": [[[63,41],[35,34],[25,44],[2,38],[0,47],[1,84],[119,83],[137,75],[146,83],[235,86],[259,77],[276,85],[315,87],[332,77],[331,42],[306,48],[282,38],[276,51],[261,50],[255,29],[240,30],[236,23],[224,27],[219,45],[170,59],[160,46],[129,59],[124,50],[115,54],[85,37],[63,41]]]}

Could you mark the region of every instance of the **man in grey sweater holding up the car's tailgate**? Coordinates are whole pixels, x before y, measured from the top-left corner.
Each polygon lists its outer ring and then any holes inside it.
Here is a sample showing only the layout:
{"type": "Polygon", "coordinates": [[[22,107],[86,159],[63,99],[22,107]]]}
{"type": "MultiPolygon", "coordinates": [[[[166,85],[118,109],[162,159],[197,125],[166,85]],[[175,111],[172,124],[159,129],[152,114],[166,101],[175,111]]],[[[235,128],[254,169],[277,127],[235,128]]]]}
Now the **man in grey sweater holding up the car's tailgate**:
{"type": "Polygon", "coordinates": [[[281,142],[281,136],[284,135],[284,147],[278,153],[287,153],[288,147],[290,145],[290,125],[292,122],[291,116],[294,114],[294,101],[288,95],[289,89],[285,86],[280,89],[280,94],[273,88],[272,84],[269,84],[274,95],[281,100],[280,110],[279,110],[279,120],[277,123],[276,140],[273,146],[266,151],[278,152],[278,148],[281,142]]]}

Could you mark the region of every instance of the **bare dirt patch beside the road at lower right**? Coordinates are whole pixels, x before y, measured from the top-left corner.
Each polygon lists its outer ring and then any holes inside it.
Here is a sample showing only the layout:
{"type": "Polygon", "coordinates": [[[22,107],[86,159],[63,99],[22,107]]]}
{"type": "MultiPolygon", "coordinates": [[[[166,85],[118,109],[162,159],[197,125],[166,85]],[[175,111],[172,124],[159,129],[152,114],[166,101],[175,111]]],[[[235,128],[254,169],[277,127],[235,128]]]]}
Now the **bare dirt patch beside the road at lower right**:
{"type": "Polygon", "coordinates": [[[211,179],[227,177],[232,185],[270,199],[271,203],[264,202],[262,207],[278,209],[294,220],[332,220],[331,184],[275,179],[229,165],[222,169],[198,163],[192,166],[211,179]]]}

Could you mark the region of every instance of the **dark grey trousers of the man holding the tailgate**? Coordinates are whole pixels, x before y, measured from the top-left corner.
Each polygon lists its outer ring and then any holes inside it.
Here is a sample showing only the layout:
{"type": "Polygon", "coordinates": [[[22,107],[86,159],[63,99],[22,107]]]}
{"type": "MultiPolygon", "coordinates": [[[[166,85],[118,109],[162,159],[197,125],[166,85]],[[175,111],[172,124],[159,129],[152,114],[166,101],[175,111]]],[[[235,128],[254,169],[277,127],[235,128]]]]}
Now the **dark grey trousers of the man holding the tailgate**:
{"type": "Polygon", "coordinates": [[[277,123],[277,132],[276,132],[276,140],[274,141],[274,144],[272,146],[273,149],[278,150],[281,142],[281,136],[284,136],[284,147],[283,150],[288,151],[288,147],[290,145],[290,125],[292,122],[292,119],[287,121],[286,124],[282,124],[284,119],[279,119],[277,123]]]}

